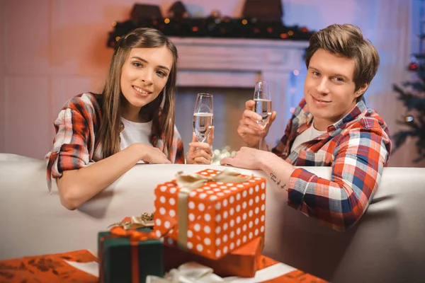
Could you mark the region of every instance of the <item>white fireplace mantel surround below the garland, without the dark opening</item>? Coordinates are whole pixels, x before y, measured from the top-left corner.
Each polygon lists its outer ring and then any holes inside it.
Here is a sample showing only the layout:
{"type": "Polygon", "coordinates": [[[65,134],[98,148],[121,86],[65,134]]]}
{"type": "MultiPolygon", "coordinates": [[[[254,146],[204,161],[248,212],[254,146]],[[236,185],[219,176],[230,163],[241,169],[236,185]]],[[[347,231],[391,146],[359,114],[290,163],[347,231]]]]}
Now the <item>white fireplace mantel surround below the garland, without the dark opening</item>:
{"type": "MultiPolygon", "coordinates": [[[[302,67],[307,41],[171,37],[179,52],[177,86],[253,88],[255,81],[270,81],[273,123],[267,141],[283,134],[288,113],[285,92],[290,73],[302,67]]],[[[290,113],[289,113],[290,114],[290,113]]]]}

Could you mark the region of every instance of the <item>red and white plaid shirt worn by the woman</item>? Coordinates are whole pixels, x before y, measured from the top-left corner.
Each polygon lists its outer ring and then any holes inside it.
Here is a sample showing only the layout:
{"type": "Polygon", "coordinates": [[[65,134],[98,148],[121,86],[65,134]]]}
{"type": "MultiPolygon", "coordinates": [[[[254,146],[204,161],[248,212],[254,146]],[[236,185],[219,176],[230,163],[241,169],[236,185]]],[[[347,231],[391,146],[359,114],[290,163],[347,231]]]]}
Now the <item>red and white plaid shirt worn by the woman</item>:
{"type": "MultiPolygon", "coordinates": [[[[55,120],[56,137],[53,149],[46,156],[47,185],[51,190],[52,178],[60,178],[66,170],[79,169],[89,163],[102,159],[101,146],[96,144],[96,133],[101,125],[101,96],[83,93],[65,103],[55,120]]],[[[152,132],[154,127],[152,123],[152,132]]],[[[152,144],[163,150],[162,139],[157,141],[151,137],[152,144]]],[[[165,152],[172,163],[184,163],[183,141],[174,127],[174,139],[171,149],[165,152]]]]}

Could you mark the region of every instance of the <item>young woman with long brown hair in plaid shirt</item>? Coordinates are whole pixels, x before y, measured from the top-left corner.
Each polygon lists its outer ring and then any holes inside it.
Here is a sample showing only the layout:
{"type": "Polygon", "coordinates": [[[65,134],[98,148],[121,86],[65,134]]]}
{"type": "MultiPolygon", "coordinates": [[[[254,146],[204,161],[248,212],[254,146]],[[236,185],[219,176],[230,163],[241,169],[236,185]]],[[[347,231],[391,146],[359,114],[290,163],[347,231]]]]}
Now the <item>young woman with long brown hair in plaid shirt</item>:
{"type": "MultiPolygon", "coordinates": [[[[57,180],[60,201],[76,209],[136,163],[184,163],[174,125],[177,50],[158,30],[137,28],[115,47],[103,92],[65,103],[47,154],[47,183],[57,180]],[[88,166],[90,164],[90,166],[88,166]]],[[[210,164],[210,144],[193,142],[186,163],[210,164]]]]}

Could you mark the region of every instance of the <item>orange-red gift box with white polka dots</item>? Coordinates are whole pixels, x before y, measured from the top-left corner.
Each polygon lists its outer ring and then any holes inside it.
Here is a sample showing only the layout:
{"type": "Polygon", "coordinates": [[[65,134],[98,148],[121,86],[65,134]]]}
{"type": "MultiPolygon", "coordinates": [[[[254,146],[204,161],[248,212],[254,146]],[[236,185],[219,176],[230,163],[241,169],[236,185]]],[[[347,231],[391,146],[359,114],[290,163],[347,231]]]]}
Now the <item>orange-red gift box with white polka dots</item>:
{"type": "MultiPolygon", "coordinates": [[[[201,175],[220,171],[206,169],[201,175]]],[[[266,179],[252,176],[244,183],[207,182],[187,196],[187,231],[178,231],[179,191],[176,180],[155,189],[154,233],[164,236],[164,244],[178,246],[179,233],[187,234],[181,243],[191,253],[219,259],[254,238],[263,236],[266,212],[266,179]]]]}

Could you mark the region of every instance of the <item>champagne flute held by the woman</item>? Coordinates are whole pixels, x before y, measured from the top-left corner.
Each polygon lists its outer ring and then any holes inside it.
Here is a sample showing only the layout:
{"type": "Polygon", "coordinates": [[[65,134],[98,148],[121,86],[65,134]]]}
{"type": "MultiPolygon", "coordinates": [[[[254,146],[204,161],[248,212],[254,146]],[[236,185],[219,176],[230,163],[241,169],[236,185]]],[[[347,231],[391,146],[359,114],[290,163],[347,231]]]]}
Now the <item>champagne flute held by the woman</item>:
{"type": "Polygon", "coordinates": [[[193,132],[199,142],[205,142],[212,127],[212,94],[198,93],[193,111],[193,132]]]}

